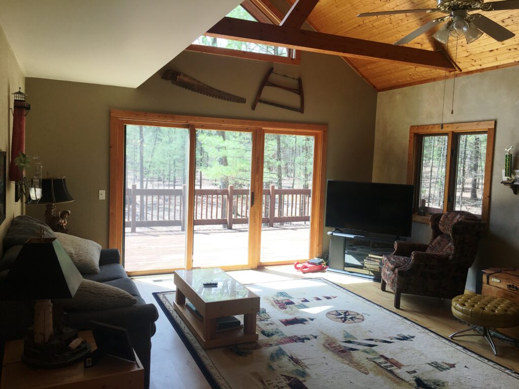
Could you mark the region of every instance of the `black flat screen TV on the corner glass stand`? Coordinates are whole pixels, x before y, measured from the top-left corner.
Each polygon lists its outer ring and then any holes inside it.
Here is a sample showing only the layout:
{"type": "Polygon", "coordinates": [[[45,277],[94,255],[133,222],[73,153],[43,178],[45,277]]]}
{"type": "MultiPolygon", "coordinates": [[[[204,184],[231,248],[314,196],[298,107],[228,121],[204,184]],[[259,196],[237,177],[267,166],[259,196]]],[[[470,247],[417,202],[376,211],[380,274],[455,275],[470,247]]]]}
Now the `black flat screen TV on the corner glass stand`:
{"type": "Polygon", "coordinates": [[[411,236],[413,185],[330,179],[326,193],[326,227],[364,235],[411,236]]]}

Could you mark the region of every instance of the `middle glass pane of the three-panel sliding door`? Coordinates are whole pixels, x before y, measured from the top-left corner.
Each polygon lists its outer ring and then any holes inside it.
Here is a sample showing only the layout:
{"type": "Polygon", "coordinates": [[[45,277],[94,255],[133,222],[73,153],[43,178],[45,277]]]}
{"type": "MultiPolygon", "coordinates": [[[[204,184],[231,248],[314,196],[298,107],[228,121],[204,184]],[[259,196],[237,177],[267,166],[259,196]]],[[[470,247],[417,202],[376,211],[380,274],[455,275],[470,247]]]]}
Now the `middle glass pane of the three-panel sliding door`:
{"type": "Polygon", "coordinates": [[[252,133],[196,129],[193,267],[248,266],[252,133]]]}

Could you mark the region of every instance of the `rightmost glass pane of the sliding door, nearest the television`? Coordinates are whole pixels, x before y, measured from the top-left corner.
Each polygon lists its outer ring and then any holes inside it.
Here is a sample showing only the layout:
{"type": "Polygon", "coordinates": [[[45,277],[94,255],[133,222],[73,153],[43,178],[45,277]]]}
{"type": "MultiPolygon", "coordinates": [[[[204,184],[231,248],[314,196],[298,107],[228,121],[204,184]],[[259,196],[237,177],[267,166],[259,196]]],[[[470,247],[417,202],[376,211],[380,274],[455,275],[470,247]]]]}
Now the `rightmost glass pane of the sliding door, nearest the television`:
{"type": "Polygon", "coordinates": [[[313,136],[265,134],[261,263],[309,259],[313,146],[313,136]]]}

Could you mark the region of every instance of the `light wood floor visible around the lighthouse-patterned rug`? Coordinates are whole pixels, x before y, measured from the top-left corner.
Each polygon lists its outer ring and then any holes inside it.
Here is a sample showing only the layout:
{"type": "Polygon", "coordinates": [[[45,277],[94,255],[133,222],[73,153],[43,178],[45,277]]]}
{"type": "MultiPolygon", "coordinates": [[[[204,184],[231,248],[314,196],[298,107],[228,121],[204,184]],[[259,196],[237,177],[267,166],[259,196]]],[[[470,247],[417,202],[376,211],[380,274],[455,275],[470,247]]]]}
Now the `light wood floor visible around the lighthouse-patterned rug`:
{"type": "MultiPolygon", "coordinates": [[[[380,284],[342,274],[321,272],[302,274],[292,266],[272,266],[258,270],[237,270],[229,272],[243,284],[268,281],[281,281],[303,277],[324,277],[354,293],[357,293],[383,307],[397,312],[412,321],[421,324],[438,334],[448,337],[455,331],[468,328],[456,321],[450,313],[450,300],[402,295],[401,309],[393,307],[393,293],[380,290],[380,284]]],[[[147,302],[155,303],[152,296],[154,291],[174,290],[172,275],[160,277],[141,277],[135,279],[136,284],[147,302]],[[163,280],[154,282],[154,280],[163,280]]],[[[198,369],[193,358],[176,334],[168,318],[159,308],[159,319],[156,322],[157,332],[152,338],[152,388],[197,389],[209,388],[206,379],[198,369]]],[[[519,327],[507,331],[507,334],[519,339],[519,327]]],[[[495,362],[519,371],[519,349],[515,346],[494,339],[498,356],[494,356],[490,346],[482,337],[463,337],[457,342],[466,348],[481,354],[495,362]]]]}

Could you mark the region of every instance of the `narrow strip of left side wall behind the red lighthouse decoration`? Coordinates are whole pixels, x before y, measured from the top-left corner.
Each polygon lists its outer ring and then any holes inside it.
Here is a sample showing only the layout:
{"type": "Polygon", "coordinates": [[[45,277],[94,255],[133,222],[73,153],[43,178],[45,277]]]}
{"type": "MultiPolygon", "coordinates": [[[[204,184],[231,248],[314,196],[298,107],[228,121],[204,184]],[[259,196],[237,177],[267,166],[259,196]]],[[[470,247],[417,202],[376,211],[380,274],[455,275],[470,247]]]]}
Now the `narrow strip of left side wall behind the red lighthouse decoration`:
{"type": "MultiPolygon", "coordinates": [[[[12,131],[12,115],[9,108],[12,108],[13,96],[11,93],[17,92],[18,88],[25,89],[25,77],[18,65],[15,54],[13,53],[2,26],[0,26],[0,151],[7,152],[6,163],[10,160],[10,144],[12,131]]],[[[30,99],[28,99],[30,102],[30,99]]],[[[9,174],[9,169],[7,169],[9,174]]],[[[0,178],[2,179],[2,178],[0,178]]],[[[22,213],[22,203],[15,203],[15,184],[6,183],[6,219],[0,225],[0,237],[4,237],[7,229],[11,225],[13,217],[22,213]]],[[[0,240],[0,252],[2,251],[2,241],[0,240]]]]}

